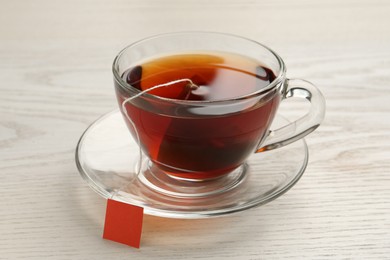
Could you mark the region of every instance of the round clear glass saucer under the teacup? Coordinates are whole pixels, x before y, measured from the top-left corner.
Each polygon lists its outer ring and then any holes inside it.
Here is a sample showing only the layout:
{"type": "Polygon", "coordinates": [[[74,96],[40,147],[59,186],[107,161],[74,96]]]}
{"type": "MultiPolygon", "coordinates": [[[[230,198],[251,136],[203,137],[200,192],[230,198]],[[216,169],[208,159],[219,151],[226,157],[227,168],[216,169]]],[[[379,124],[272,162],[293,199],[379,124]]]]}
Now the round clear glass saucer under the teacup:
{"type": "MultiPolygon", "coordinates": [[[[277,115],[271,128],[288,121],[277,115]]],[[[142,156],[143,158],[145,156],[142,156]]],[[[243,166],[246,174],[225,192],[180,197],[145,185],[137,168],[139,148],[119,110],[98,120],[81,136],[76,163],[88,185],[104,198],[144,208],[144,213],[170,218],[209,218],[231,214],[274,200],[302,176],[308,162],[304,139],[275,150],[251,155],[243,166]]],[[[180,180],[178,180],[180,181],[180,180]]],[[[183,182],[185,187],[186,182],[183,182]]],[[[204,187],[212,183],[203,182],[204,187]]]]}

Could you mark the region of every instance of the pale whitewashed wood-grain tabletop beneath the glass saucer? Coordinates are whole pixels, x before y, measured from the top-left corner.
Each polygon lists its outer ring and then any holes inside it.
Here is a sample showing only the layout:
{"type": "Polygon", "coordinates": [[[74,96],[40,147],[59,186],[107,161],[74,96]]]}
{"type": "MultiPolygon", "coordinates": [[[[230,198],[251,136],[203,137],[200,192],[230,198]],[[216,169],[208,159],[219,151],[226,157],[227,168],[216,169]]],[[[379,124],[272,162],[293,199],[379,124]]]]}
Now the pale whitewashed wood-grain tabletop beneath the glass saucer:
{"type": "Polygon", "coordinates": [[[0,259],[389,259],[389,27],[385,0],[1,0],[0,259]],[[106,201],[79,176],[76,143],[116,108],[116,53],[183,30],[260,41],[319,86],[309,165],[262,207],[146,216],[141,249],[103,240],[106,201]]]}

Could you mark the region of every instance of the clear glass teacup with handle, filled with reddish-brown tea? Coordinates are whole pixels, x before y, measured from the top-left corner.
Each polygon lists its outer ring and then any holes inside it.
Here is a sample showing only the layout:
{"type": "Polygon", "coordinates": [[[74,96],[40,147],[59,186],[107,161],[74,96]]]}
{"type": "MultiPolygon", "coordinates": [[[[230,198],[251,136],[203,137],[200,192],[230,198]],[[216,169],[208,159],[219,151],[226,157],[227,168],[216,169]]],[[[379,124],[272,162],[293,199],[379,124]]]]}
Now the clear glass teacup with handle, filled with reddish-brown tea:
{"type": "Polygon", "coordinates": [[[325,114],[320,91],[288,79],[278,54],[228,34],[184,32],[138,41],[118,54],[113,74],[124,120],[148,158],[141,171],[160,183],[245,174],[248,156],[303,138],[325,114]],[[160,81],[152,80],[156,75],[160,81]],[[156,86],[161,88],[152,90],[156,86]],[[271,130],[280,102],[291,97],[308,100],[309,112],[271,130]]]}

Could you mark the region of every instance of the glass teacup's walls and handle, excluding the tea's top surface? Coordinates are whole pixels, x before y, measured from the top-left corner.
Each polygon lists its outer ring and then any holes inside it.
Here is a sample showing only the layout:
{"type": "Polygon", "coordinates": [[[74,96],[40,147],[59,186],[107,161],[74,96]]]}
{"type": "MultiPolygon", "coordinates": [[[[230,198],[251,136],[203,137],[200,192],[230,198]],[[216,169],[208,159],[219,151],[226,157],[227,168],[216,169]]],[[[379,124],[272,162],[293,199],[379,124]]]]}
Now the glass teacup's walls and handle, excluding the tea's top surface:
{"type": "Polygon", "coordinates": [[[113,74],[124,120],[146,156],[139,164],[140,174],[156,189],[167,189],[171,180],[213,185],[210,181],[218,179],[226,185],[222,177],[245,174],[248,156],[303,138],[320,125],[325,114],[321,92],[308,81],[288,79],[278,54],[258,42],[228,34],[184,32],[138,41],[118,54],[113,74]],[[213,52],[256,60],[275,79],[245,95],[203,101],[141,93],[123,79],[130,68],[155,57],[213,52]],[[291,97],[309,101],[309,112],[270,129],[280,102],[291,97]]]}

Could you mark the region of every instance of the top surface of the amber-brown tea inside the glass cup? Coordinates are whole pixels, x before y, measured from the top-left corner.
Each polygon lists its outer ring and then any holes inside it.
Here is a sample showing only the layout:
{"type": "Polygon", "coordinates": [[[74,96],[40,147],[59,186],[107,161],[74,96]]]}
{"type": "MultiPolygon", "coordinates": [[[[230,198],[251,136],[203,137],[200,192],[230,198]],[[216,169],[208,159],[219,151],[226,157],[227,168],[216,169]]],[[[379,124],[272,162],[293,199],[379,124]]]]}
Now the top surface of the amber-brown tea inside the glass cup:
{"type": "Polygon", "coordinates": [[[190,79],[199,88],[189,90],[188,82],[161,87],[150,94],[172,99],[221,100],[251,94],[269,85],[274,73],[259,62],[230,53],[176,54],[149,60],[123,74],[139,90],[181,79],[190,79]]]}

